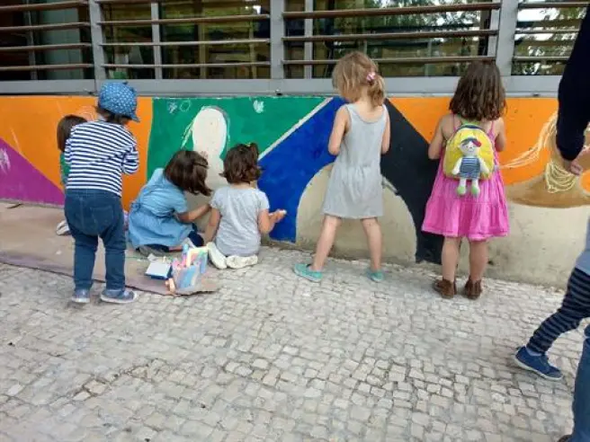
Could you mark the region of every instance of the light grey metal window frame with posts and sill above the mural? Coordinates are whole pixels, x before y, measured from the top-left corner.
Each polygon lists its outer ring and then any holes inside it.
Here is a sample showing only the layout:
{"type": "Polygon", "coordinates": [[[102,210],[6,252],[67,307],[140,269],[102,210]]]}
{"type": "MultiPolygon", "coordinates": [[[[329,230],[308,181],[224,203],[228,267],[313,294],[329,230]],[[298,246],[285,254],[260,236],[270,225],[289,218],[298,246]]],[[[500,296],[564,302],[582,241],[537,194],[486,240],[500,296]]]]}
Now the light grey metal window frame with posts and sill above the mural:
{"type": "MultiPolygon", "coordinates": [[[[232,95],[334,95],[332,82],[325,78],[311,78],[313,42],[305,40],[312,36],[313,17],[327,12],[313,12],[313,0],[305,0],[306,10],[302,13],[285,12],[284,0],[272,0],[270,12],[270,79],[163,79],[162,44],[159,23],[158,0],[133,0],[130,3],[150,4],[152,22],[152,42],[148,47],[154,50],[155,79],[130,80],[140,95],[148,96],[232,96],[232,95]],[[316,14],[316,15],[314,15],[316,14]],[[285,78],[286,60],[285,21],[294,16],[303,17],[305,21],[303,62],[294,64],[304,66],[304,78],[285,78]]],[[[477,2],[477,0],[476,0],[477,2]]],[[[70,3],[63,1],[63,3],[70,3]]],[[[84,0],[78,3],[85,4],[84,0]]],[[[102,6],[106,4],[125,4],[125,0],[89,0],[87,2],[90,17],[90,33],[94,58],[94,80],[27,80],[0,82],[0,94],[95,94],[107,79],[106,69],[112,64],[105,62],[104,49],[116,47],[116,43],[104,43],[102,6]]],[[[512,75],[514,62],[514,35],[518,12],[522,9],[540,9],[541,7],[582,7],[586,2],[540,2],[520,3],[518,0],[495,0],[487,2],[485,10],[491,12],[488,53],[485,57],[494,57],[499,67],[506,93],[511,96],[555,96],[559,86],[559,75],[512,75]],[[491,41],[490,41],[491,40],[491,41]],[[494,47],[493,49],[491,49],[494,47]]],[[[482,5],[483,3],[476,3],[482,5]]],[[[465,7],[465,4],[461,4],[465,7]]],[[[26,6],[25,6],[26,7],[26,6]]],[[[416,6],[416,8],[433,9],[434,6],[416,6]]],[[[482,11],[469,6],[471,10],[482,11]]],[[[57,9],[57,7],[56,7],[57,9]]],[[[399,9],[399,8],[398,8],[399,9]]],[[[2,8],[0,8],[0,12],[2,8]]],[[[166,19],[170,20],[170,19],[166,19]]],[[[144,21],[145,22],[145,21],[144,21]]],[[[483,35],[482,31],[482,35],[483,35]]],[[[289,40],[289,38],[287,38],[289,40]]],[[[542,57],[540,58],[542,59],[542,57]]],[[[331,61],[330,61],[331,63],[331,61]]],[[[245,65],[246,66],[246,65],[245,65]]],[[[442,96],[449,95],[458,81],[457,76],[424,77],[386,77],[386,90],[396,96],[442,96]]]]}

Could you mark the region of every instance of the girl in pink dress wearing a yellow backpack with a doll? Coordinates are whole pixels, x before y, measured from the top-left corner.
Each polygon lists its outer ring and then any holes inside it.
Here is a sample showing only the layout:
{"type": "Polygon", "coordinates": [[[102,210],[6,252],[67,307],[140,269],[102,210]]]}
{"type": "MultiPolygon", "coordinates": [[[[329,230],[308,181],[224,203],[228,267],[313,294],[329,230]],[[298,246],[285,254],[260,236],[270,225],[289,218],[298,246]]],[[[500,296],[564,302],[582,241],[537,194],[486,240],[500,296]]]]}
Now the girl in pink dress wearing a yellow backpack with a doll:
{"type": "Polygon", "coordinates": [[[438,122],[428,147],[430,159],[443,159],[426,204],[422,229],[444,236],[443,278],[434,283],[434,289],[446,298],[457,293],[459,246],[461,239],[468,239],[465,295],[477,299],[487,266],[487,241],[509,231],[504,183],[496,167],[496,152],[504,150],[506,144],[502,119],[505,91],[496,65],[470,65],[460,78],[450,110],[438,122]]]}

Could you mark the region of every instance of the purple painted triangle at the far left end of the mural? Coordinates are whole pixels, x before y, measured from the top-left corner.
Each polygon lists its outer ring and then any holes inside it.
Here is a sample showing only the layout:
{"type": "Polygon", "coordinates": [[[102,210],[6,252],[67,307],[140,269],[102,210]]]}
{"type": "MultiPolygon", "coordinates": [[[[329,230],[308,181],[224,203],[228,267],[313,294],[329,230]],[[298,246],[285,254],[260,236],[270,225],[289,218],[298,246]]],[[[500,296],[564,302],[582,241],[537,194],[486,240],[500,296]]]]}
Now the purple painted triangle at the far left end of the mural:
{"type": "Polygon", "coordinates": [[[0,138],[0,199],[62,206],[64,193],[0,138]]]}

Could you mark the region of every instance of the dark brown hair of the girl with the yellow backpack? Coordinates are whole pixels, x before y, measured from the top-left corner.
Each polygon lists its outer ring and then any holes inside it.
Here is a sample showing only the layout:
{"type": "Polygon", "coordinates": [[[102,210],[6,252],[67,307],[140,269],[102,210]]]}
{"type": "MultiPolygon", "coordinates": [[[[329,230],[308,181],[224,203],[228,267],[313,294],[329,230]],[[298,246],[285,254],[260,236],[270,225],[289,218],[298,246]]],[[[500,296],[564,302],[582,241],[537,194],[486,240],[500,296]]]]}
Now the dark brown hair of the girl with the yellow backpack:
{"type": "Polygon", "coordinates": [[[449,109],[464,119],[494,121],[506,107],[500,71],[493,62],[475,62],[460,77],[449,109]]]}

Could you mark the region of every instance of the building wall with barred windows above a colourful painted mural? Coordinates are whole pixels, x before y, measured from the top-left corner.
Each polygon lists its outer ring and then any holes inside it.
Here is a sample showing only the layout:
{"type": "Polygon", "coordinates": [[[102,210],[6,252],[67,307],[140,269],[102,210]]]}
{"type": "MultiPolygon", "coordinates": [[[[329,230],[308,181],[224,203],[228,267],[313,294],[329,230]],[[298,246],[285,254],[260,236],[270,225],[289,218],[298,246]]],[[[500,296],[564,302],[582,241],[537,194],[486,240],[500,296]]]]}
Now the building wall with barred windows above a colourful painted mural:
{"type": "MultiPolygon", "coordinates": [[[[333,158],[331,73],[347,51],[380,65],[389,93],[391,148],[382,160],[386,255],[440,261],[423,234],[436,164],[426,157],[437,119],[466,66],[494,60],[508,93],[509,145],[501,155],[512,234],[492,245],[505,278],[565,279],[585,234],[590,174],[560,169],[555,94],[586,2],[425,0],[4,0],[0,5],[0,199],[60,205],[56,125],[94,118],[108,79],[140,93],[141,167],[125,181],[129,204],[180,148],[209,153],[213,187],[230,146],[255,141],[259,186],[288,217],[272,239],[311,246],[333,158]],[[568,217],[576,234],[552,228],[568,217]]],[[[586,164],[590,168],[590,163],[586,164]]],[[[344,225],[336,252],[365,249],[344,225]]]]}

